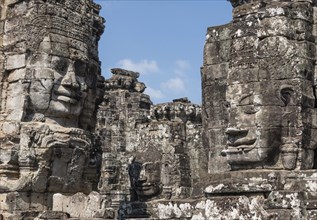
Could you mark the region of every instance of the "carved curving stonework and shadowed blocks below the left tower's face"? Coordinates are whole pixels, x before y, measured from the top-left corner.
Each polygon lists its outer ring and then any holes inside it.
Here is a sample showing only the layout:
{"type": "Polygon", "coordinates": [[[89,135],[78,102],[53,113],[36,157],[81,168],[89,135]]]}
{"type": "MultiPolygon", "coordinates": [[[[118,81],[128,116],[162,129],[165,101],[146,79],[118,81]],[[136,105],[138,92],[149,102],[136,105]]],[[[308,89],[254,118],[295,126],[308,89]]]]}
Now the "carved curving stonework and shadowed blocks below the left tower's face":
{"type": "MultiPolygon", "coordinates": [[[[64,129],[36,123],[22,128],[19,168],[36,170],[32,185],[37,192],[77,192],[92,190],[85,179],[91,166],[91,134],[81,129],[64,129]]],[[[96,171],[95,171],[96,176],[96,171]]],[[[25,182],[25,185],[28,183],[25,182]]]]}

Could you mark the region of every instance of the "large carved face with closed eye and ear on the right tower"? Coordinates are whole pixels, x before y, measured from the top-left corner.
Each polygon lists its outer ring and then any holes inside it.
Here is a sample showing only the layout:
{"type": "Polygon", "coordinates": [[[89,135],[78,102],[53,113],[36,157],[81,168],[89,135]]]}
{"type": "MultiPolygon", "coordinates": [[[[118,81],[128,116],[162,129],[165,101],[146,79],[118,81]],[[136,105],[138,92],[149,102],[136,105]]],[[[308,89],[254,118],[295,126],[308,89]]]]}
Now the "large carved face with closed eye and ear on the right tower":
{"type": "Polygon", "coordinates": [[[282,137],[295,135],[300,82],[264,81],[228,86],[229,125],[223,151],[233,169],[276,164],[282,137]]]}

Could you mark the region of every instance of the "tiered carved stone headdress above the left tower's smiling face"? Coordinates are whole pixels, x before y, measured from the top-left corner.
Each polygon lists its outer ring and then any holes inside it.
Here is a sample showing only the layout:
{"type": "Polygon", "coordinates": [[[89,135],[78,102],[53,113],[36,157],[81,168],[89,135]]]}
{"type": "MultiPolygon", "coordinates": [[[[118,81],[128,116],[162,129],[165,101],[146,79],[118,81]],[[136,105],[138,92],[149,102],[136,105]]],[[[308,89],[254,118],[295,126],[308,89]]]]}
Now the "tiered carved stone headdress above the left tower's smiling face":
{"type": "Polygon", "coordinates": [[[5,16],[9,17],[19,4],[26,8],[21,14],[23,22],[6,31],[10,39],[7,46],[25,42],[26,49],[34,52],[44,37],[50,36],[51,42],[67,44],[70,55],[98,61],[98,40],[104,31],[100,5],[92,0],[18,1],[5,6],[5,16]]]}

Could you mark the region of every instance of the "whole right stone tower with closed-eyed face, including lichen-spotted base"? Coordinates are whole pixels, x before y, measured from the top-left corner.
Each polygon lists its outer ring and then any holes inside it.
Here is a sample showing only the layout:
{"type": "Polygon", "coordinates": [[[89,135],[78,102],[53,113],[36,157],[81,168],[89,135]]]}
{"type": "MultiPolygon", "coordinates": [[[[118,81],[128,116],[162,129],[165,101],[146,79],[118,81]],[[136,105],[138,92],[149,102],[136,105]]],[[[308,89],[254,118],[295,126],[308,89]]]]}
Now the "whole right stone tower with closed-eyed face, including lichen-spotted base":
{"type": "Polygon", "coordinates": [[[233,21],[208,28],[201,71],[206,196],[239,218],[314,219],[316,3],[230,2],[233,21]]]}

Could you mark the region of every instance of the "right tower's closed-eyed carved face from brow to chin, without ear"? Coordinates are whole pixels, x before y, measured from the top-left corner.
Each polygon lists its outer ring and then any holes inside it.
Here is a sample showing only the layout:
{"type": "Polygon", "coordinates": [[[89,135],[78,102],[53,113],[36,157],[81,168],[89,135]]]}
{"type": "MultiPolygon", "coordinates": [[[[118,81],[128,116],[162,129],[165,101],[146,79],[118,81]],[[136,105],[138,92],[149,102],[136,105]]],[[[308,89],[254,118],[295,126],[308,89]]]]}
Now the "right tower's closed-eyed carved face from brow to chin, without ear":
{"type": "MultiPolygon", "coordinates": [[[[237,103],[235,100],[230,102],[229,127],[226,129],[228,147],[223,151],[228,163],[231,166],[247,167],[252,167],[253,164],[275,164],[281,145],[282,111],[275,111],[276,108],[272,109],[264,104],[260,97],[263,90],[260,86],[258,89],[254,86],[245,86],[242,89],[237,88],[239,86],[232,87],[228,88],[228,100],[235,99],[240,94],[242,97],[237,98],[237,103]],[[237,94],[238,91],[241,93],[237,94]],[[269,125],[272,125],[272,119],[277,126],[269,125]]],[[[273,90],[272,93],[274,92],[276,91],[273,90]]]]}

